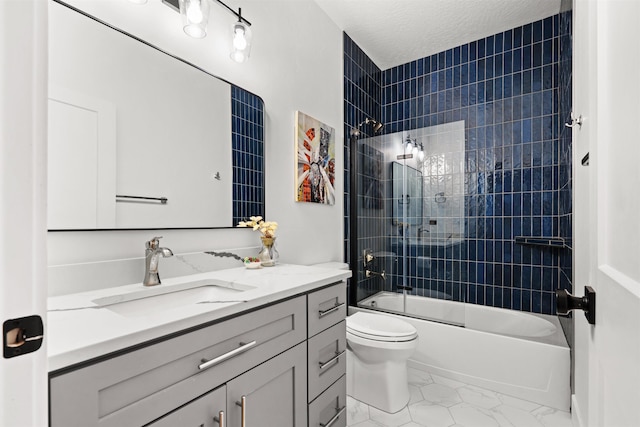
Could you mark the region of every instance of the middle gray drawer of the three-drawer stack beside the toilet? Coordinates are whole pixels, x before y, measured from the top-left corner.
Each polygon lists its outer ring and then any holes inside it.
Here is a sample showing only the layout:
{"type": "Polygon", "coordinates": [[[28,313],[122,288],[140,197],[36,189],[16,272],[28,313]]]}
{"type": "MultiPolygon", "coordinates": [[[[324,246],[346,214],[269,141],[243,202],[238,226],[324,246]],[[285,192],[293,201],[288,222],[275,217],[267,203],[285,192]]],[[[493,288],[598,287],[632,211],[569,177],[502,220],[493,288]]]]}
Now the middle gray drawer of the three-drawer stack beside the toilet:
{"type": "Polygon", "coordinates": [[[309,401],[333,384],[346,372],[346,320],[309,339],[309,401]]]}

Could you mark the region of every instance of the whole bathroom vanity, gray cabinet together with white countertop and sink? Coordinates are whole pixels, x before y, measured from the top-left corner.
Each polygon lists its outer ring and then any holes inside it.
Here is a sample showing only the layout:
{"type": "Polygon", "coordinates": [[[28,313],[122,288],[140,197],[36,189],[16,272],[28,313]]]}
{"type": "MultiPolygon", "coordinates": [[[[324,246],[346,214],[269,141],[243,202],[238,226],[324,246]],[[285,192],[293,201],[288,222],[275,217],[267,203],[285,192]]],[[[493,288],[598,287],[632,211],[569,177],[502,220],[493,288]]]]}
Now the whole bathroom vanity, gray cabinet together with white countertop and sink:
{"type": "Polygon", "coordinates": [[[50,425],[346,426],[350,275],[236,268],[51,298],[50,425]]]}

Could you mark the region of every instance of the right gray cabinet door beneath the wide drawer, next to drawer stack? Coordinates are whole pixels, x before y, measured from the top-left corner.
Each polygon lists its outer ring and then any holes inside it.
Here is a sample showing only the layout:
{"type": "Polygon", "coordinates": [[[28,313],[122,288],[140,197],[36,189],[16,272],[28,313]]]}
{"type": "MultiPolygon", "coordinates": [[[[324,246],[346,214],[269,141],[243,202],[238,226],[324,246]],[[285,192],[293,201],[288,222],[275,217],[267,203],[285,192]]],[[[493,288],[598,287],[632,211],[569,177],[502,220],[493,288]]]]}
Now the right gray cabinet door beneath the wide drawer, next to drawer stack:
{"type": "Polygon", "coordinates": [[[228,382],[225,427],[305,427],[306,358],[302,343],[228,382]]]}

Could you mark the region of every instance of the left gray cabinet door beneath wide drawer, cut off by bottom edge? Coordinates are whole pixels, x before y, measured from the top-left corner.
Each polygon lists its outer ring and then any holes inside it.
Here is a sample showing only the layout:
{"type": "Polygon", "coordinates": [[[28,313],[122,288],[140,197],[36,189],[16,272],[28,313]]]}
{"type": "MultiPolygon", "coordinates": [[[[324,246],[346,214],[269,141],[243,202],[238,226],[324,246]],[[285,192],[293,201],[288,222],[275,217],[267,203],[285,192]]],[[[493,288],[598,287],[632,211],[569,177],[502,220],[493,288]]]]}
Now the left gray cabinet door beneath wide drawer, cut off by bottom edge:
{"type": "MultiPolygon", "coordinates": [[[[227,406],[227,390],[219,387],[165,415],[147,427],[218,427],[220,412],[227,406]]],[[[225,417],[225,414],[222,414],[225,417]]],[[[222,425],[221,427],[225,427],[222,425]]]]}

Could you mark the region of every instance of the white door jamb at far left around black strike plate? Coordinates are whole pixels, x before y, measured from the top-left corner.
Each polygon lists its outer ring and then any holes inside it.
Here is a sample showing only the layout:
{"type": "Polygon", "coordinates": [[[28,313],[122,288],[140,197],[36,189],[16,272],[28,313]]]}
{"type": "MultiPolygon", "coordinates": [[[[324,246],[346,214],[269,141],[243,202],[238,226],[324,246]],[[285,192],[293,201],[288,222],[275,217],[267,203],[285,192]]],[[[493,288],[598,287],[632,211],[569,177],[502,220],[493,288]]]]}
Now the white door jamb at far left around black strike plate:
{"type": "MultiPolygon", "coordinates": [[[[46,2],[0,1],[0,319],[45,328],[46,51],[46,2]]],[[[47,394],[46,336],[0,358],[0,426],[47,425],[47,394]]]]}

